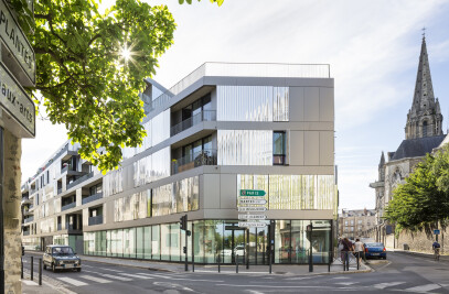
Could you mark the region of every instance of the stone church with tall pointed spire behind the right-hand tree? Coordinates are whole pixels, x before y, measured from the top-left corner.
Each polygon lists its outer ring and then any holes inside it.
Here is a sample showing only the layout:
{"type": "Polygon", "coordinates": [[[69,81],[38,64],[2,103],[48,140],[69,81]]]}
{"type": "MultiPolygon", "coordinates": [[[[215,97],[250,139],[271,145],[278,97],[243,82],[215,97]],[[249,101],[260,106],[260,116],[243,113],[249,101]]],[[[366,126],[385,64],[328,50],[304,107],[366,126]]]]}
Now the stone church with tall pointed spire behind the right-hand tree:
{"type": "MultiPolygon", "coordinates": [[[[441,124],[442,115],[438,98],[434,96],[426,37],[423,36],[414,99],[405,124],[405,140],[396,151],[387,153],[387,159],[382,152],[378,179],[370,184],[376,195],[376,241],[386,243],[386,236],[394,233],[393,226],[382,218],[385,207],[392,199],[394,188],[404,183],[426,153],[431,153],[441,144],[446,137],[441,124]]],[[[395,247],[394,243],[389,246],[395,247]]]]}

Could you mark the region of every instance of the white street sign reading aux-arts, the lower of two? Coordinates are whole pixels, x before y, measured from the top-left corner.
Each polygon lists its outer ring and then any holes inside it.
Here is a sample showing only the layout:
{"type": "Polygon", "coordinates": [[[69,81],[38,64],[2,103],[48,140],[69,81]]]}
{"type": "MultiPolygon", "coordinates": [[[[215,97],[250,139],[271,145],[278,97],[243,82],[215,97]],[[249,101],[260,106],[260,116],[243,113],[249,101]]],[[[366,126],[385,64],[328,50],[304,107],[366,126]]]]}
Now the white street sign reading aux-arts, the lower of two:
{"type": "Polygon", "coordinates": [[[26,132],[35,135],[34,102],[2,63],[0,63],[0,105],[26,132]]]}

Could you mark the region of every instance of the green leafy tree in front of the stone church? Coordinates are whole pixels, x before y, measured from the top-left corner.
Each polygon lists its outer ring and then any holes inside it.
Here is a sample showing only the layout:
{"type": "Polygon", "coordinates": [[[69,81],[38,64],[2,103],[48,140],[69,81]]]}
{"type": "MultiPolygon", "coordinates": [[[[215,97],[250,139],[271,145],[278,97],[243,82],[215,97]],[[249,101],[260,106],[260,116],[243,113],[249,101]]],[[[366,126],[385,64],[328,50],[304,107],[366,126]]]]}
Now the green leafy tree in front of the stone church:
{"type": "Polygon", "coordinates": [[[449,219],[448,167],[447,150],[435,156],[427,154],[406,182],[396,187],[385,218],[396,224],[397,231],[424,229],[430,233],[438,224],[446,226],[449,219]]]}

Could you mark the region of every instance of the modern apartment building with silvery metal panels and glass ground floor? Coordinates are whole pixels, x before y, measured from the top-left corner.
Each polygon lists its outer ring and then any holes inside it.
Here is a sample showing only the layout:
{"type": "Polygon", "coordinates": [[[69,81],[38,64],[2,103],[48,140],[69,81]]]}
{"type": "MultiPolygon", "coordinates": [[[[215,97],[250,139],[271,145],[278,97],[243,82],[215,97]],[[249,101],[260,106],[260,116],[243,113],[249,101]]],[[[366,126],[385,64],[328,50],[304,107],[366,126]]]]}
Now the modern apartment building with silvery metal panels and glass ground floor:
{"type": "Polygon", "coordinates": [[[329,65],[206,63],[170,89],[146,79],[147,137],[103,175],[70,142],[22,185],[23,243],[84,254],[232,263],[327,262],[336,219],[329,65]],[[264,228],[238,227],[240,189],[266,192],[264,228]],[[312,232],[307,231],[312,225],[312,232]],[[192,249],[193,246],[193,249],[192,249]]]}

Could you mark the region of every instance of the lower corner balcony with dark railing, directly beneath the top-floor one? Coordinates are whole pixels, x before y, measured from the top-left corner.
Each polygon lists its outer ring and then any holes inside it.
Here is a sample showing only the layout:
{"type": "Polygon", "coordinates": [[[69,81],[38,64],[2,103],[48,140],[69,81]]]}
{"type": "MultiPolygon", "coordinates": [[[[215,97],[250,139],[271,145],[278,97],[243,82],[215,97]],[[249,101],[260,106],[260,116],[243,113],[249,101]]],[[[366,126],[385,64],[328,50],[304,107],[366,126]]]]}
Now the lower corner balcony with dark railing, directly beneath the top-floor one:
{"type": "Polygon", "coordinates": [[[202,165],[216,165],[216,150],[202,150],[171,163],[171,173],[178,174],[202,165]]]}

